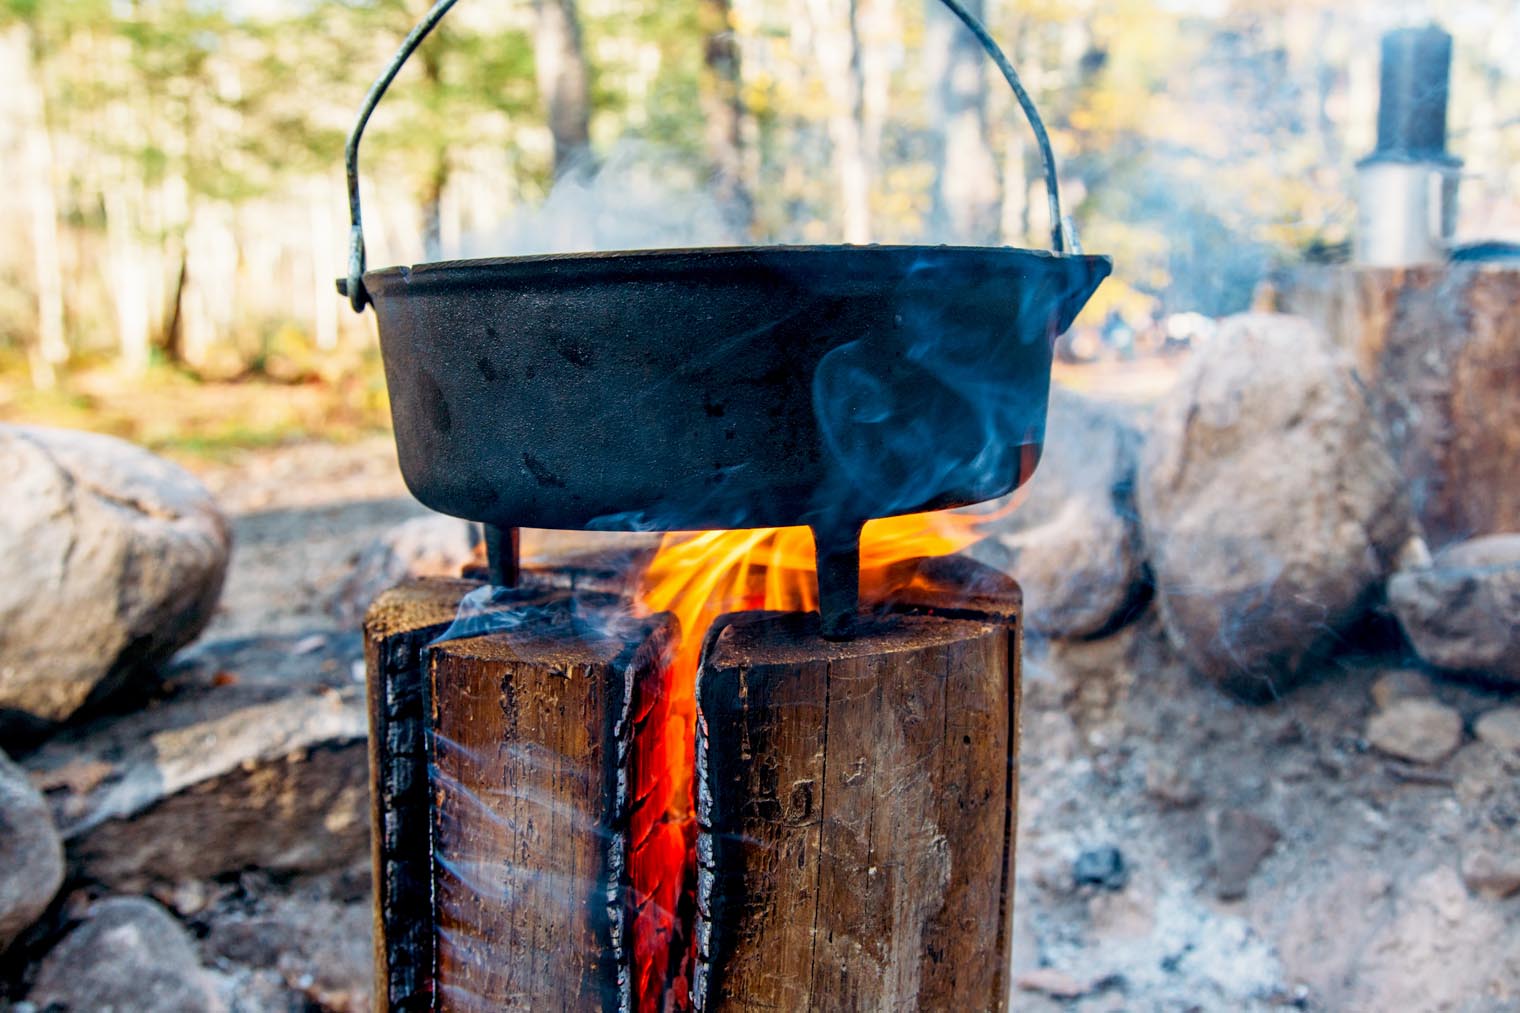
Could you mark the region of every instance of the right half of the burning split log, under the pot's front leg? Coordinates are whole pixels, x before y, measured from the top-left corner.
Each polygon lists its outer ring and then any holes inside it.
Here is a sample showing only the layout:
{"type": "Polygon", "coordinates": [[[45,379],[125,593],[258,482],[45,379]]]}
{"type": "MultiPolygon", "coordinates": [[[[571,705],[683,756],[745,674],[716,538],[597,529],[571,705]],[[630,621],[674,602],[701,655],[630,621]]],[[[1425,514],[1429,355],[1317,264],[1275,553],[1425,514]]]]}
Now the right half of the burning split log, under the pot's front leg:
{"type": "MultiPolygon", "coordinates": [[[[920,611],[964,608],[918,592],[920,611]]],[[[986,608],[874,614],[847,642],[815,614],[714,624],[696,1008],[1006,1008],[1017,589],[988,590],[986,608]]]]}

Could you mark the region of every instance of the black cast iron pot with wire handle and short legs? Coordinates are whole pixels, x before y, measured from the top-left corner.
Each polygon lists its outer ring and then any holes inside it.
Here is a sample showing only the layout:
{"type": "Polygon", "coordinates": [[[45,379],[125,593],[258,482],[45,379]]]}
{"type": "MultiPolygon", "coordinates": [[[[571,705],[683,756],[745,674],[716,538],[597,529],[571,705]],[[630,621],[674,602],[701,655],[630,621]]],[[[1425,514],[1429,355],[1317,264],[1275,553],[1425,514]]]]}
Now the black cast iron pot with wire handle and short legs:
{"type": "Polygon", "coordinates": [[[854,611],[860,525],[964,506],[1032,473],[1050,359],[1108,275],[1062,252],[734,246],[365,271],[357,151],[441,0],[371,88],[348,140],[353,251],[339,283],[378,316],[407,487],[486,525],[492,575],[518,526],[684,531],[810,525],[825,627],[854,611]]]}

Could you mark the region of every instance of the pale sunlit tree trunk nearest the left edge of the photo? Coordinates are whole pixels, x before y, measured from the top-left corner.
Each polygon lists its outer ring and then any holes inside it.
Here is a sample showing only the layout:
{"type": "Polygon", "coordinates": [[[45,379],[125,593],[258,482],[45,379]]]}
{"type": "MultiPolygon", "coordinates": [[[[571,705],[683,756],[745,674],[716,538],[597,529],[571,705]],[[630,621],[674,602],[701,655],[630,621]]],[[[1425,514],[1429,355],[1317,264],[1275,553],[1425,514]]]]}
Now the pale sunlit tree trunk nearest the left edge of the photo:
{"type": "Polygon", "coordinates": [[[43,81],[33,58],[32,32],[17,24],[5,50],[20,67],[21,173],[32,210],[32,268],[36,283],[36,347],[32,351],[32,383],[50,388],[56,371],[68,362],[64,335],[64,269],[58,252],[58,202],[53,196],[53,143],[47,132],[47,105],[43,81]]]}

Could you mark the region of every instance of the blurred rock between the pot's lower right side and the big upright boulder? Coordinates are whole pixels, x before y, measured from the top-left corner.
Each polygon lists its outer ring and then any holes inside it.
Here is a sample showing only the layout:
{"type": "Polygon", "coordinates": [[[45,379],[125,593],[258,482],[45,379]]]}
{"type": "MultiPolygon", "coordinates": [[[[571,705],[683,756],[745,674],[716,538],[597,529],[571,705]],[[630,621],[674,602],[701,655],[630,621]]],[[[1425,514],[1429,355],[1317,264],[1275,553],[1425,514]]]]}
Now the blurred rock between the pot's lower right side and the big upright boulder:
{"type": "Polygon", "coordinates": [[[1029,630],[1094,636],[1128,614],[1142,587],[1140,435],[1113,409],[1059,386],[1046,432],[1021,502],[973,554],[1018,580],[1029,630]]]}

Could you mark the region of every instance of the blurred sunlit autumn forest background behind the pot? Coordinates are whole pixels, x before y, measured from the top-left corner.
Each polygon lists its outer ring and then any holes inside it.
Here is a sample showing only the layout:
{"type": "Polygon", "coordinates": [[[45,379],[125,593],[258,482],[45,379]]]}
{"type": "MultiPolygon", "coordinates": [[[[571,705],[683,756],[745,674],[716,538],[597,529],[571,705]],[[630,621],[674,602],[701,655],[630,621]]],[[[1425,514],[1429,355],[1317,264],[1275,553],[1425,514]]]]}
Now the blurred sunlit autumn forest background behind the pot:
{"type": "MultiPolygon", "coordinates": [[[[109,429],[116,405],[116,427],[149,443],[383,424],[372,315],[333,287],[342,146],[427,6],[0,0],[0,417],[109,429]],[[236,385],[287,391],[243,403],[236,385]],[[144,405],[170,418],[163,432],[128,426],[144,405]]],[[[1050,126],[1085,248],[1117,262],[1097,319],[1236,310],[1274,265],[1335,256],[1373,146],[1377,37],[1435,11],[968,6],[1050,126]]],[[[1456,37],[1462,231],[1512,237],[1520,5],[1438,17],[1456,37]]],[[[529,208],[556,176],[582,187],[572,214],[637,225],[626,163],[655,166],[648,221],[714,210],[701,227],[613,230],[626,245],[1049,236],[1029,129],[936,0],[467,0],[366,135],[369,263],[521,252],[535,231],[553,248],[529,208]],[[622,175],[597,192],[606,166],[622,175]]],[[[567,236],[559,248],[584,245],[567,236]]]]}

